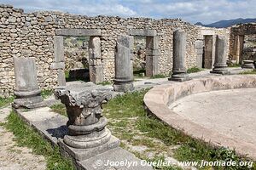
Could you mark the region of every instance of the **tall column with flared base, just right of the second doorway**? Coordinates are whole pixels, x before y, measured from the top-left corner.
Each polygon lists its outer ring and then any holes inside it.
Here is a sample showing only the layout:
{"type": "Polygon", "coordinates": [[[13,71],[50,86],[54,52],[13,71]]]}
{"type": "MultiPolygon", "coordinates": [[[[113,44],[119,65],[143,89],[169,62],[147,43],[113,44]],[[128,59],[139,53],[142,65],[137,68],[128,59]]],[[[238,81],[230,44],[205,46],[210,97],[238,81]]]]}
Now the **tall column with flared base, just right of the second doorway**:
{"type": "Polygon", "coordinates": [[[186,33],[181,30],[173,33],[173,68],[170,81],[183,82],[189,80],[186,71],[186,33]]]}

